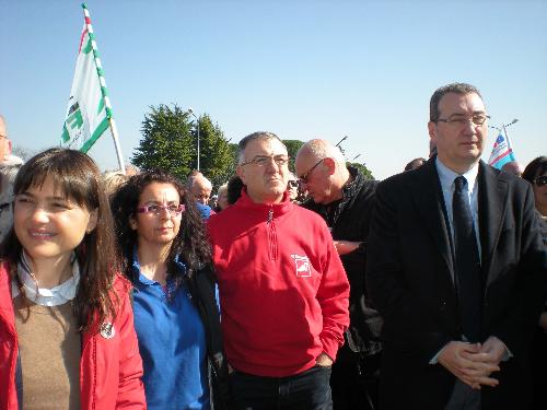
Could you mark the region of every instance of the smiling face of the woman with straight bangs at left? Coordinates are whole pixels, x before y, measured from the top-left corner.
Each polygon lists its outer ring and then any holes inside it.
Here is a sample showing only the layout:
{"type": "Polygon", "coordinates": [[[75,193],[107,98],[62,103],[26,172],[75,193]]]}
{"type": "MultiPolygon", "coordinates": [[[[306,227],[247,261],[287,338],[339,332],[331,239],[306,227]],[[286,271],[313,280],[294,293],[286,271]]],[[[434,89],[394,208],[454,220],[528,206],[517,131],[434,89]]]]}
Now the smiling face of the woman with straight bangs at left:
{"type": "Polygon", "coordinates": [[[55,189],[46,177],[42,187],[31,186],[15,198],[15,235],[35,263],[44,259],[67,261],[86,232],[95,229],[97,211],[81,208],[55,189]]]}

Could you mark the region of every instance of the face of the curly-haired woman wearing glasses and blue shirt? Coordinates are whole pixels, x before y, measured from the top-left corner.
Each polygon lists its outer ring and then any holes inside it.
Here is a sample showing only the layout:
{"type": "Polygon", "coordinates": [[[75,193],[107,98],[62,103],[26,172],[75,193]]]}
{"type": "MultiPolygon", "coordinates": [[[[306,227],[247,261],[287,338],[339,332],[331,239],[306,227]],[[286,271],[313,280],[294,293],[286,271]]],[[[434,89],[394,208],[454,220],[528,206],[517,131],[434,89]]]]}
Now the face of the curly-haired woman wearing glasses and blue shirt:
{"type": "MultiPolygon", "coordinates": [[[[176,188],[166,183],[147,185],[139,197],[138,208],[148,206],[178,206],[181,197],[176,188]]],[[[163,209],[160,214],[137,212],[131,219],[131,229],[137,231],[138,246],[170,245],[181,229],[182,213],[173,214],[163,209]]]]}

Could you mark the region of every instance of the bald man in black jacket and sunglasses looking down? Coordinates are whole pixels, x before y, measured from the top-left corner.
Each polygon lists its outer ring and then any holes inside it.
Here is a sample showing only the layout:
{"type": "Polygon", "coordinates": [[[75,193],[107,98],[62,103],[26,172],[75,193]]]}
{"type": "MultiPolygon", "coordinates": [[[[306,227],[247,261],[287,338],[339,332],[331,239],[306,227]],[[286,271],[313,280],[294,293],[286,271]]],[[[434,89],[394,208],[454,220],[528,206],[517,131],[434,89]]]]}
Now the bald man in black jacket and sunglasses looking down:
{"type": "Polygon", "coordinates": [[[382,319],[365,298],[364,268],[377,183],[347,166],[341,151],[319,139],[302,145],[295,167],[302,188],[309,192],[302,207],[319,214],[331,229],[350,284],[350,326],[330,377],[334,409],[374,409],[382,319]]]}

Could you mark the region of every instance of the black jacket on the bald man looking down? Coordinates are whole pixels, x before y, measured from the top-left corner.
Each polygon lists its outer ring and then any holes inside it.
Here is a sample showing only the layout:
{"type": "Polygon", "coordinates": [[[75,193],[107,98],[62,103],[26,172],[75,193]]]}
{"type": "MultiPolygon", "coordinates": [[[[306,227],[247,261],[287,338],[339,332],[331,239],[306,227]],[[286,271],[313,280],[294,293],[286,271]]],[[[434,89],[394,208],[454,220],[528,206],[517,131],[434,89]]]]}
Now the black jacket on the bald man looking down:
{"type": "Polygon", "coordinates": [[[381,350],[382,319],[368,298],[364,268],[377,181],[365,179],[354,167],[348,167],[348,171],[352,180],[342,188],[340,200],[321,204],[310,198],[302,203],[302,207],[323,216],[327,225],[331,227],[335,241],[362,242],[357,250],[340,256],[350,284],[350,326],[346,331],[346,341],[353,352],[374,354],[381,350]]]}

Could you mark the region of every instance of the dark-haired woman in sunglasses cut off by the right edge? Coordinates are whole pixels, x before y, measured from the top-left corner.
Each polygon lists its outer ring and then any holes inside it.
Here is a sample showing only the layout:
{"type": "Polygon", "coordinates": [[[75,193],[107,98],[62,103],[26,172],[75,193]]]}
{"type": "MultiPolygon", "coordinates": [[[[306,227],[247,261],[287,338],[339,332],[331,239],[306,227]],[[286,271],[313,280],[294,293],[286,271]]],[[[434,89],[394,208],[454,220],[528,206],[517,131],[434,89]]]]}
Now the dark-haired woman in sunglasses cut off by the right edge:
{"type": "MultiPolygon", "coordinates": [[[[538,156],[526,165],[522,178],[532,184],[537,216],[542,223],[542,235],[544,244],[547,246],[547,156],[538,156]]],[[[534,358],[532,363],[534,399],[532,408],[547,409],[547,395],[545,394],[547,391],[545,378],[545,370],[547,368],[547,300],[534,337],[532,358],[534,358]]]]}

